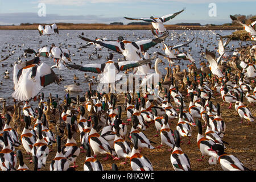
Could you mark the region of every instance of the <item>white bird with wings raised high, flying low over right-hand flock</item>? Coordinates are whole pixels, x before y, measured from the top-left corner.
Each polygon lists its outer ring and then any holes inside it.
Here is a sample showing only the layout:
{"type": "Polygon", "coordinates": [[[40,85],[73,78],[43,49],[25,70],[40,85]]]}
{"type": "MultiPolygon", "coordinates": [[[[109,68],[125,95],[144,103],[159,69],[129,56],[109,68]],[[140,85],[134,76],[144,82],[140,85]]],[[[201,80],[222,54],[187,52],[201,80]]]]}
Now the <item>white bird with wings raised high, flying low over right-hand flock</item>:
{"type": "Polygon", "coordinates": [[[213,52],[209,52],[207,49],[205,49],[205,58],[207,59],[207,61],[209,62],[209,68],[210,71],[218,76],[218,78],[222,78],[224,77],[224,75],[221,72],[220,69],[220,65],[219,65],[219,61],[221,60],[221,57],[224,55],[224,53],[222,53],[222,55],[220,57],[218,57],[218,59],[215,59],[215,55],[213,52]]]}

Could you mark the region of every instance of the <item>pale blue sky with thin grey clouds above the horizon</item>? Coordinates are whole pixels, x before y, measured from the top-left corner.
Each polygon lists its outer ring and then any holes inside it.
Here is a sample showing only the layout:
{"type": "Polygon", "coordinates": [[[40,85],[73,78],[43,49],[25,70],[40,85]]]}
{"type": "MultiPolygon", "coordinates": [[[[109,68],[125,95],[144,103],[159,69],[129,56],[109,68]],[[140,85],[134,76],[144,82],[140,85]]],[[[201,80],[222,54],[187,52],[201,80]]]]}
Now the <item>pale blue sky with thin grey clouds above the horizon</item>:
{"type": "Polygon", "coordinates": [[[131,22],[131,18],[163,16],[180,11],[166,24],[175,23],[230,23],[229,15],[255,13],[256,1],[240,0],[0,0],[0,24],[19,23],[110,23],[131,22]],[[46,5],[46,17],[39,17],[39,3],[46,5]],[[216,3],[216,17],[210,17],[209,3],[216,3]]]}

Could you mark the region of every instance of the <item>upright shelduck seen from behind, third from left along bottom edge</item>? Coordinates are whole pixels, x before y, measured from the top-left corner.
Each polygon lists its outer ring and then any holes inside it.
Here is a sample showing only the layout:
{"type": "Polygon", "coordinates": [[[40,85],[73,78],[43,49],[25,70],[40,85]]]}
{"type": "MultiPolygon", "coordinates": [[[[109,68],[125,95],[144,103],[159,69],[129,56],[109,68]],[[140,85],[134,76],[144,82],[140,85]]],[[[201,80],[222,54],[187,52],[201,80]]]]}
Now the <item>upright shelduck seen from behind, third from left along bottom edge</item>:
{"type": "Polygon", "coordinates": [[[49,148],[46,141],[43,139],[42,135],[42,125],[38,124],[38,139],[33,145],[31,150],[32,156],[34,158],[34,165],[36,169],[41,169],[43,166],[46,166],[46,161],[49,155],[49,148]]]}

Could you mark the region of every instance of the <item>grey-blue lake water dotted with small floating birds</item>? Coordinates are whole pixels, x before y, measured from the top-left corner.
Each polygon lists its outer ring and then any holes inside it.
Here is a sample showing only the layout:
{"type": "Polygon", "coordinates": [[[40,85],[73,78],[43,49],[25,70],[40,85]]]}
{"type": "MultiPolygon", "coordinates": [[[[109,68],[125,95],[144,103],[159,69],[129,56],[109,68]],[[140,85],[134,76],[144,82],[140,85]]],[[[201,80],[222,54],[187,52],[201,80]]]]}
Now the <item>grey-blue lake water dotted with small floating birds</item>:
{"type": "MultiPolygon", "coordinates": [[[[150,30],[60,30],[59,35],[51,35],[51,36],[39,36],[39,33],[37,30],[0,30],[0,56],[6,56],[11,54],[12,51],[14,51],[13,55],[9,57],[6,61],[3,61],[1,64],[5,64],[5,67],[2,67],[0,64],[0,73],[2,76],[0,76],[0,82],[3,82],[2,86],[0,87],[0,98],[5,98],[7,100],[7,104],[13,103],[13,100],[11,99],[11,93],[13,93],[13,67],[10,67],[11,64],[14,65],[15,61],[18,61],[18,57],[22,56],[24,53],[24,49],[32,48],[38,50],[39,48],[43,46],[51,46],[51,43],[55,43],[55,46],[60,46],[63,48],[67,48],[71,52],[71,59],[73,63],[81,64],[92,64],[92,63],[104,63],[106,56],[108,56],[109,52],[114,53],[114,60],[118,58],[122,58],[123,56],[119,53],[115,53],[114,51],[108,51],[108,49],[103,48],[102,51],[98,51],[102,58],[97,59],[97,54],[92,55],[94,58],[93,60],[88,59],[88,55],[95,52],[93,49],[93,46],[90,46],[86,49],[82,49],[82,51],[77,52],[78,48],[82,45],[85,45],[86,42],[84,40],[81,40],[80,38],[77,38],[78,35],[81,34],[81,32],[84,32],[84,36],[86,38],[94,39],[94,38],[109,38],[109,39],[117,39],[118,36],[122,35],[127,40],[132,41],[138,41],[138,40],[145,40],[145,39],[152,39],[154,36],[152,36],[152,33],[150,30]],[[69,33],[69,36],[67,34],[69,33]],[[133,35],[134,34],[134,35],[133,35]],[[138,38],[138,39],[137,39],[138,38]],[[42,41],[42,42],[39,42],[42,41]],[[75,47],[76,46],[76,47],[75,47]],[[2,52],[2,50],[5,50],[6,52],[2,52]],[[8,52],[10,50],[10,52],[8,52]],[[75,56],[72,56],[75,54],[75,56]],[[10,72],[10,78],[5,79],[3,78],[5,70],[10,72]]],[[[214,33],[224,35],[229,35],[232,33],[232,31],[214,31],[214,33]]],[[[193,59],[196,60],[196,65],[199,65],[199,59],[205,60],[203,57],[201,57],[200,52],[205,51],[205,48],[208,48],[210,51],[217,51],[217,39],[216,35],[213,34],[213,31],[191,31],[191,30],[170,30],[169,37],[165,40],[165,43],[167,43],[168,46],[176,45],[176,44],[182,44],[187,39],[191,40],[193,36],[195,36],[195,39],[192,43],[189,44],[188,47],[184,47],[184,51],[188,51],[189,47],[192,47],[191,52],[189,54],[192,55],[193,59]],[[179,39],[177,38],[179,36],[179,39]],[[173,38],[173,40],[172,40],[173,38]],[[196,44],[203,45],[203,49],[200,48],[200,46],[196,47],[196,44]],[[207,47],[208,46],[208,47],[207,47]]],[[[240,47],[240,42],[238,41],[232,41],[229,43],[229,46],[227,47],[228,51],[232,51],[234,48],[240,47]],[[233,45],[233,47],[232,47],[233,45]]],[[[242,46],[246,45],[246,42],[241,42],[242,46]]],[[[162,45],[156,45],[153,48],[150,48],[148,50],[148,53],[154,53],[155,51],[162,51],[162,45]],[[160,48],[158,47],[160,46],[160,48]]],[[[179,49],[180,51],[181,48],[179,49]]],[[[230,52],[232,53],[232,52],[230,52]]],[[[218,55],[217,55],[218,56],[218,55]]],[[[31,60],[33,59],[34,55],[32,57],[21,57],[22,61],[25,60],[31,60]]],[[[161,57],[161,56],[160,56],[161,57]]],[[[2,58],[0,58],[2,59],[2,58]]],[[[54,65],[53,59],[50,58],[44,58],[40,57],[40,60],[49,64],[50,66],[54,65]]],[[[164,68],[168,65],[167,60],[164,60],[166,63],[165,65],[160,64],[159,70],[163,72],[163,75],[166,73],[166,70],[164,68]]],[[[188,61],[180,61],[180,67],[181,69],[187,68],[186,64],[188,61]],[[184,63],[182,65],[181,63],[184,63]]],[[[154,61],[152,61],[152,64],[154,64],[154,61]]],[[[80,71],[75,70],[59,70],[57,68],[53,69],[57,75],[61,75],[64,79],[64,81],[60,82],[60,85],[57,84],[51,84],[46,86],[46,88],[43,88],[41,92],[44,92],[44,95],[46,97],[49,96],[49,93],[52,93],[53,96],[56,96],[56,94],[59,95],[60,98],[64,97],[64,86],[73,84],[73,75],[76,74],[77,77],[79,77],[79,80],[77,82],[80,82],[81,88],[84,90],[88,90],[88,83],[82,83],[81,81],[84,79],[84,73],[80,71]]],[[[95,73],[87,73],[89,76],[97,76],[95,73]]],[[[96,89],[97,86],[93,85],[93,89],[96,89]]],[[[84,92],[80,93],[70,93],[70,96],[76,97],[77,94],[84,94],[84,92]]]]}

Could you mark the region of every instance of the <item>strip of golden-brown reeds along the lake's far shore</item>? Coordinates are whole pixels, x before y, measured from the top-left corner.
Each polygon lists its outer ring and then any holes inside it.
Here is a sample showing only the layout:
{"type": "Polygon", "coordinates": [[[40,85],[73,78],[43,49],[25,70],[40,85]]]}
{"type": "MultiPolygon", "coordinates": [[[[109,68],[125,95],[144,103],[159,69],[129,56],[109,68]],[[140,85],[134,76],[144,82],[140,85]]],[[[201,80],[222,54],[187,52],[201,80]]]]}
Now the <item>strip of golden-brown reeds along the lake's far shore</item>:
{"type": "MultiPolygon", "coordinates": [[[[150,30],[151,25],[110,25],[110,24],[58,24],[59,30],[150,30]]],[[[168,30],[242,30],[241,26],[177,26],[167,24],[168,30]]],[[[37,30],[38,24],[22,26],[0,26],[0,30],[37,30]]]]}

